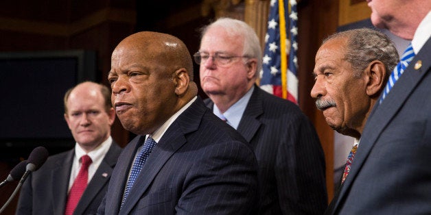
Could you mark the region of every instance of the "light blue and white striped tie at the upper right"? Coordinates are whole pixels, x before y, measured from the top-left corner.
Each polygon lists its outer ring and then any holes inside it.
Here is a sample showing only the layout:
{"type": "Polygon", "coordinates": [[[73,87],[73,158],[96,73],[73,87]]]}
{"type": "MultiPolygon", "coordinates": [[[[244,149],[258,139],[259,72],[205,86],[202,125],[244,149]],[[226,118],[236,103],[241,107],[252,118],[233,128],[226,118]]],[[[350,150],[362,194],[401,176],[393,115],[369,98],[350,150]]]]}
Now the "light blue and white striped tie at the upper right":
{"type": "Polygon", "coordinates": [[[383,99],[388,95],[389,90],[393,87],[398,78],[403,74],[404,69],[407,68],[408,63],[415,58],[415,51],[413,51],[412,44],[408,45],[406,51],[404,51],[401,56],[401,60],[398,62],[397,66],[393,69],[391,73],[391,77],[389,77],[388,83],[386,84],[386,88],[384,88],[382,97],[380,98],[379,103],[382,103],[383,99]]]}

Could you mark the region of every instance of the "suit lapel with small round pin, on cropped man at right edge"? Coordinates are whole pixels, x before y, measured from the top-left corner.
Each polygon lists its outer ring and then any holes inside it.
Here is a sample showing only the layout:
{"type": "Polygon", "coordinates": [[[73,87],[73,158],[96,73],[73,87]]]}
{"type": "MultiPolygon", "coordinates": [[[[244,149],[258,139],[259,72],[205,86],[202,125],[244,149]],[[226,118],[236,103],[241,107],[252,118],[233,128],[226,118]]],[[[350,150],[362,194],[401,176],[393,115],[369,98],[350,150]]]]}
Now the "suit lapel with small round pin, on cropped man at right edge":
{"type": "Polygon", "coordinates": [[[344,186],[340,190],[340,197],[336,200],[335,208],[337,209],[340,201],[345,197],[347,190],[350,189],[351,184],[358,175],[362,164],[368,157],[373,145],[379,138],[384,128],[388,125],[391,119],[397,114],[402,108],[404,103],[408,100],[408,97],[419,84],[419,81],[425,75],[430,68],[430,53],[426,52],[426,47],[431,46],[431,39],[428,39],[423,49],[417,53],[415,58],[406,68],[403,75],[399,77],[397,83],[391,89],[391,92],[386,96],[382,104],[373,108],[372,114],[369,116],[364,131],[360,139],[360,146],[356,151],[355,162],[351,166],[351,172],[347,177],[344,186]],[[415,69],[415,64],[421,60],[422,66],[419,69],[415,69]]]}

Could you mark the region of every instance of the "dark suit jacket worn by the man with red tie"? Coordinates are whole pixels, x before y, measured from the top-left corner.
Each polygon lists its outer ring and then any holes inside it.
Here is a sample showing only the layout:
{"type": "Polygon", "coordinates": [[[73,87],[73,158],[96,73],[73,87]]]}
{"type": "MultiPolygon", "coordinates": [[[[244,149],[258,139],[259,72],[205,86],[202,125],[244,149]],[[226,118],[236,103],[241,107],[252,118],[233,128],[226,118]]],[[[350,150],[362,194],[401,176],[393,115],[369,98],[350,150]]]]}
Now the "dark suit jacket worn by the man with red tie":
{"type": "MultiPolygon", "coordinates": [[[[111,144],[82,194],[74,214],[95,214],[106,190],[121,148],[111,144]],[[106,174],[105,174],[106,173],[106,174]]],[[[67,190],[75,149],[49,156],[23,183],[16,214],[65,214],[67,190]]]]}

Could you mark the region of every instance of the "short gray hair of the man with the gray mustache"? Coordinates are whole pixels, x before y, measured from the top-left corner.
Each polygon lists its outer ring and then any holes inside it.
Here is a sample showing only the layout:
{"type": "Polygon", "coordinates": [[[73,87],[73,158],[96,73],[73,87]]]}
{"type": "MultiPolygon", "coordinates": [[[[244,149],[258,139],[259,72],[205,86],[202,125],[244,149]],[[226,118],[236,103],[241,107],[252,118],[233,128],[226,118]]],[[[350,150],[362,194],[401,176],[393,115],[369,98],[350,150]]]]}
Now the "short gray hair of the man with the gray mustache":
{"type": "Polygon", "coordinates": [[[373,60],[380,60],[386,68],[385,78],[388,78],[399,61],[395,45],[380,31],[369,28],[342,31],[325,38],[322,44],[334,38],[347,38],[345,60],[351,64],[355,77],[361,77],[373,60]]]}

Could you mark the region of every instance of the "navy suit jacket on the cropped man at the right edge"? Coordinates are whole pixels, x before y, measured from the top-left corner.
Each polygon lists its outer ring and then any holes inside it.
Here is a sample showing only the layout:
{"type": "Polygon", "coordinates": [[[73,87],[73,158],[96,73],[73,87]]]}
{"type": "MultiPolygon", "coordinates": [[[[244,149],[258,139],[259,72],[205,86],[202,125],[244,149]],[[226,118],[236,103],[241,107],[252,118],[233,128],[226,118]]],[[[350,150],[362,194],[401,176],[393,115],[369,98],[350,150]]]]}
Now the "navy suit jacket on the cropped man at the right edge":
{"type": "Polygon", "coordinates": [[[430,70],[428,39],[373,108],[349,176],[326,214],[431,214],[430,70]]]}

